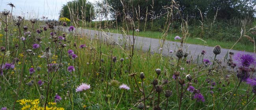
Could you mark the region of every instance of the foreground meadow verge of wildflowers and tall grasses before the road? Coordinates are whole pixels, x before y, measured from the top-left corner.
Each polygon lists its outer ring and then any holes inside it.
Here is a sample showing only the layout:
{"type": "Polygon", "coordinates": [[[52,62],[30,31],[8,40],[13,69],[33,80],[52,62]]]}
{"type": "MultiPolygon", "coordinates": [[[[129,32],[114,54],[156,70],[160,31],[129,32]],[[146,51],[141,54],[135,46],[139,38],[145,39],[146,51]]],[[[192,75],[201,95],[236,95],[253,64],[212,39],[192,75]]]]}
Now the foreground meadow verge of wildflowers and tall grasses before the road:
{"type": "MultiPolygon", "coordinates": [[[[201,63],[193,64],[183,49],[186,27],[182,37],[175,37],[182,42],[179,49],[163,56],[163,46],[154,54],[135,48],[139,29],[130,36],[123,27],[125,43],[117,44],[102,40],[102,35],[86,38],[66,22],[54,26],[44,19],[12,18],[11,13],[2,11],[1,18],[1,110],[256,107],[256,57],[230,52],[225,62],[216,59],[221,47],[215,46],[213,60],[204,58],[208,53],[202,50],[197,53],[201,63]]],[[[125,19],[126,25],[132,24],[129,16],[125,19]]]]}

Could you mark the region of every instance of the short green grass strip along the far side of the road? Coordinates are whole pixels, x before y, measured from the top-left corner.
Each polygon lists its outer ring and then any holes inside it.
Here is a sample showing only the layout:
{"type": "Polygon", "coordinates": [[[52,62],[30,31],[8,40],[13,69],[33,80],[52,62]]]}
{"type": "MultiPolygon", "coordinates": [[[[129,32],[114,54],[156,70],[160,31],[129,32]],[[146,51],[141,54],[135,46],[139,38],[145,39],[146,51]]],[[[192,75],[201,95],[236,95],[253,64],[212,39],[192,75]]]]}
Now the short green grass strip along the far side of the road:
{"type": "MultiPolygon", "coordinates": [[[[98,30],[95,28],[86,28],[86,29],[93,29],[93,30],[98,30]]],[[[103,31],[111,32],[111,33],[120,33],[120,30],[117,29],[103,29],[103,31]]],[[[132,31],[130,31],[130,35],[132,35],[132,31]]],[[[138,34],[135,34],[140,37],[148,37],[148,38],[158,38],[161,39],[163,33],[161,32],[152,32],[152,31],[141,31],[138,34]]],[[[174,42],[180,42],[180,40],[174,40],[175,36],[181,36],[180,33],[169,33],[167,36],[167,40],[169,41],[174,41],[174,42]]],[[[198,38],[193,38],[193,37],[187,37],[185,42],[187,44],[198,44],[198,45],[203,45],[203,46],[211,46],[214,47],[216,45],[220,45],[222,48],[230,49],[232,46],[235,44],[235,42],[231,41],[219,41],[219,40],[214,40],[214,39],[198,39],[198,38]]],[[[241,51],[249,51],[249,52],[254,52],[254,45],[251,42],[248,42],[247,44],[238,42],[234,48],[235,50],[241,50],[241,51]]]]}

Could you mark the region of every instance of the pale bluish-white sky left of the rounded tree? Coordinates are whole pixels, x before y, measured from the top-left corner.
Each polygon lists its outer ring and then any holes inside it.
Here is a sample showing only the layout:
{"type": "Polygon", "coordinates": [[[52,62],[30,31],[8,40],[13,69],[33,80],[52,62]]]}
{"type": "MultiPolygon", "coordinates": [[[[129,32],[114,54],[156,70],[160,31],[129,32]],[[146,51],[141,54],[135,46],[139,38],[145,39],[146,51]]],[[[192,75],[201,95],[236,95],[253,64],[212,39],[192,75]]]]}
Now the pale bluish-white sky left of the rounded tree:
{"type": "MultiPolygon", "coordinates": [[[[59,11],[63,4],[72,0],[0,0],[0,11],[10,10],[7,3],[14,4],[13,15],[24,16],[26,19],[48,17],[48,19],[58,19],[59,11]]],[[[96,0],[88,0],[95,3],[96,0]]]]}

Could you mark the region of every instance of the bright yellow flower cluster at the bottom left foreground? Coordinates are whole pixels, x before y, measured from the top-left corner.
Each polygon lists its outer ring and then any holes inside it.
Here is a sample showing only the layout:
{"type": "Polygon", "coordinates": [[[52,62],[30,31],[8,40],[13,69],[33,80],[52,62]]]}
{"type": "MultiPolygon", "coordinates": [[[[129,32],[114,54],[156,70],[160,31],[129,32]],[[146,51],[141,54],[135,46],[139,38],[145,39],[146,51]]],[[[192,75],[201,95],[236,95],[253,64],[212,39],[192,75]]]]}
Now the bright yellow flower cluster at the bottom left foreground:
{"type": "MultiPolygon", "coordinates": [[[[38,106],[39,104],[39,99],[35,100],[27,100],[27,99],[21,99],[17,101],[22,105],[21,110],[45,110],[44,107],[38,106]]],[[[48,105],[56,105],[56,103],[48,103],[48,105]]],[[[64,110],[64,108],[57,108],[56,106],[46,106],[46,110],[64,110]]]]}

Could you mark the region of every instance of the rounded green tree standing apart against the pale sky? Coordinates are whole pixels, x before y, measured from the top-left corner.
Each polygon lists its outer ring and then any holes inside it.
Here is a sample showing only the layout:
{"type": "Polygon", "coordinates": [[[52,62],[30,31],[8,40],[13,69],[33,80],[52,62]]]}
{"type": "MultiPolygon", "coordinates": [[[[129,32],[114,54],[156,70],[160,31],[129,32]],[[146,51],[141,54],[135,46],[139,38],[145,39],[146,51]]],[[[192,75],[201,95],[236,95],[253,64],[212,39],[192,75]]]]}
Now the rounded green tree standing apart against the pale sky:
{"type": "Polygon", "coordinates": [[[59,18],[66,17],[70,20],[86,20],[94,19],[94,7],[86,0],[74,0],[62,6],[59,18]]]}

